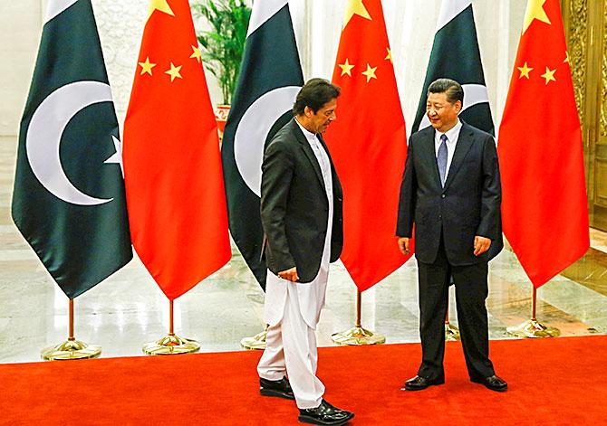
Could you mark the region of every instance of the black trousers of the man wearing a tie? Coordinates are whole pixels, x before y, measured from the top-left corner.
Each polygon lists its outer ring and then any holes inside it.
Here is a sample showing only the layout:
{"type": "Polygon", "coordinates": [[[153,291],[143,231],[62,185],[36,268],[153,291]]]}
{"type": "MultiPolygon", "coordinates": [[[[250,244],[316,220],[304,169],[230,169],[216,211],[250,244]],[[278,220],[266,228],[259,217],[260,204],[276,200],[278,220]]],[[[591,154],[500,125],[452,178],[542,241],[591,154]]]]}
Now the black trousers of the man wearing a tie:
{"type": "MultiPolygon", "coordinates": [[[[442,239],[441,239],[442,240],[442,239]]],[[[482,379],[495,374],[489,360],[487,325],[487,262],[474,265],[450,265],[443,241],[434,263],[418,262],[419,335],[422,361],[418,375],[429,379],[444,377],[445,316],[450,278],[456,289],[458,326],[467,372],[470,378],[482,379]]]]}

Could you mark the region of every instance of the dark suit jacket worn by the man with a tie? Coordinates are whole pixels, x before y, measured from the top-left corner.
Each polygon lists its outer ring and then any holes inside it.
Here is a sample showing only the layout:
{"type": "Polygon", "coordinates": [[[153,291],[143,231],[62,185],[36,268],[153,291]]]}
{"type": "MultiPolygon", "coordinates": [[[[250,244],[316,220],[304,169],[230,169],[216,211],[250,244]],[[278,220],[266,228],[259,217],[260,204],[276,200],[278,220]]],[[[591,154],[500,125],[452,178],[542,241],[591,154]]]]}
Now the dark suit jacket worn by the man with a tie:
{"type": "Polygon", "coordinates": [[[397,235],[411,237],[419,261],[437,258],[441,232],[452,265],[487,261],[502,250],[502,191],[494,138],[463,123],[445,187],[440,185],[434,148],[435,129],[409,138],[409,154],[400,186],[397,235]],[[474,255],[476,235],[491,239],[490,250],[474,255]]]}

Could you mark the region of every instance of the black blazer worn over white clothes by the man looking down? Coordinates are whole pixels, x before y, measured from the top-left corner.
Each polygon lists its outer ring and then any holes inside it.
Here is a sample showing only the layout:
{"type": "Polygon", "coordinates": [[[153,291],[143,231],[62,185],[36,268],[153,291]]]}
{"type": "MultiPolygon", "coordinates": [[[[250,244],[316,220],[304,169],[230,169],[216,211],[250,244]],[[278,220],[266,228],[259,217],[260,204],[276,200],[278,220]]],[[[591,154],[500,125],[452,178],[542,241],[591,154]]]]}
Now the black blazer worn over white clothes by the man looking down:
{"type": "MultiPolygon", "coordinates": [[[[342,253],[342,185],[332,170],[331,261],[342,253]]],[[[276,275],[297,267],[299,282],[318,274],[329,220],[329,201],[318,160],[294,119],[265,148],[261,179],[261,221],[267,267],[276,275]]]]}

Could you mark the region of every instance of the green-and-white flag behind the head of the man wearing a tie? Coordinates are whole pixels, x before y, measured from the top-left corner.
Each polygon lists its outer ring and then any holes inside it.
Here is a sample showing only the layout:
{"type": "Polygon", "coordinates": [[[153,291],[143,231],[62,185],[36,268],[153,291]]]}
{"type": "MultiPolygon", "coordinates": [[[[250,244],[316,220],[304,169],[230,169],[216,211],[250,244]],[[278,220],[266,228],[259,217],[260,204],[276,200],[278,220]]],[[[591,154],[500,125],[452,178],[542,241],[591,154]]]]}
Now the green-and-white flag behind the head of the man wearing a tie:
{"type": "Polygon", "coordinates": [[[437,28],[424,88],[419,99],[418,113],[413,122],[413,132],[430,125],[426,117],[426,98],[430,83],[448,78],[458,81],[464,88],[464,105],[459,117],[467,124],[493,135],[493,118],[478,51],[472,0],[444,0],[437,28]]]}

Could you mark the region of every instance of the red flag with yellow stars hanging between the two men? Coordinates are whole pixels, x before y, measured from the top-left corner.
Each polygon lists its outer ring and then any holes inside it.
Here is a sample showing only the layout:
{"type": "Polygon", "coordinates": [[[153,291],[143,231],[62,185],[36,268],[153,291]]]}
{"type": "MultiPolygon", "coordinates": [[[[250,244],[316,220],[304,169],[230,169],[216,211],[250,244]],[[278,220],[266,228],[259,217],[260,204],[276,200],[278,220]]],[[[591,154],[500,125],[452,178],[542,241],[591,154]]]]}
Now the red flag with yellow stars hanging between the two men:
{"type": "Polygon", "coordinates": [[[408,258],[396,232],[405,119],[380,0],[350,0],[332,77],[342,87],[327,144],[343,186],[342,262],[365,290],[408,258]]]}

